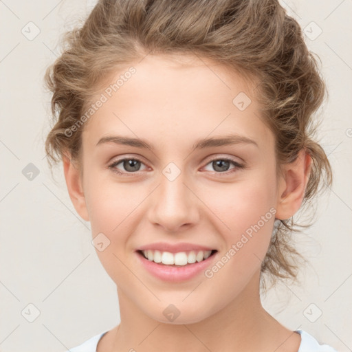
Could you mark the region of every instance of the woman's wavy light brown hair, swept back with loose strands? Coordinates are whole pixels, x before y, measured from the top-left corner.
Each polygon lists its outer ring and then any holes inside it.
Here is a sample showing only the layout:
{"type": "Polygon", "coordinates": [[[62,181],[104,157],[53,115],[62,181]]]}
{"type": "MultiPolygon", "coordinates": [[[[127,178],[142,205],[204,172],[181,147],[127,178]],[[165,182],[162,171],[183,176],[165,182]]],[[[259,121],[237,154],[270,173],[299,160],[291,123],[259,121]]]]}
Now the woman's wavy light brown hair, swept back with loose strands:
{"type": "MultiPolygon", "coordinates": [[[[278,0],[100,0],[83,25],[65,34],[63,44],[45,74],[52,92],[53,125],[45,142],[50,169],[67,152],[79,163],[85,124],[77,123],[117,67],[146,54],[189,54],[258,83],[256,98],[274,133],[278,173],[299,151],[309,153],[311,173],[301,208],[310,207],[314,196],[331,186],[331,166],[314,140],[318,124],[313,123],[325,83],[300,25],[278,0]],[[67,136],[74,124],[77,131],[67,136]]],[[[296,259],[303,256],[291,237],[310,225],[293,217],[279,221],[261,266],[273,283],[276,278],[296,280],[296,259]]]]}

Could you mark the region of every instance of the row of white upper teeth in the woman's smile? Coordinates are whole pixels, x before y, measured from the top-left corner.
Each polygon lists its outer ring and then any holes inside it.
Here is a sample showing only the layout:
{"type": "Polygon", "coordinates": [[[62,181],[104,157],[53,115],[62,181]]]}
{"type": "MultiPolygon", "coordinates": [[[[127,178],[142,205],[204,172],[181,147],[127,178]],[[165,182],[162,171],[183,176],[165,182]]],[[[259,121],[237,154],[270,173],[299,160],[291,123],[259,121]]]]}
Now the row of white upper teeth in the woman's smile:
{"type": "Polygon", "coordinates": [[[187,265],[195,263],[196,261],[203,261],[207,259],[211,250],[199,250],[186,252],[160,252],[159,250],[144,250],[142,251],[146,259],[155,263],[162,263],[165,265],[187,265]]]}

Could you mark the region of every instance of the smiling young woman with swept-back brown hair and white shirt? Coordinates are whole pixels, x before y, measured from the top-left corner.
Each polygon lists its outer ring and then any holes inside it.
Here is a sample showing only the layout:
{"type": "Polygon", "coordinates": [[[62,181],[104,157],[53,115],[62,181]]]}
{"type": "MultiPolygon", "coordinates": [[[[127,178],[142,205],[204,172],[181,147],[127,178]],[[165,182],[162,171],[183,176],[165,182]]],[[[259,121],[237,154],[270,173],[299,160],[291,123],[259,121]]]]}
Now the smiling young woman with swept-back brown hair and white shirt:
{"type": "Polygon", "coordinates": [[[310,129],[325,85],[278,1],[98,1],[46,80],[47,153],[120,305],[71,351],[335,351],[261,305],[331,184],[310,129]]]}

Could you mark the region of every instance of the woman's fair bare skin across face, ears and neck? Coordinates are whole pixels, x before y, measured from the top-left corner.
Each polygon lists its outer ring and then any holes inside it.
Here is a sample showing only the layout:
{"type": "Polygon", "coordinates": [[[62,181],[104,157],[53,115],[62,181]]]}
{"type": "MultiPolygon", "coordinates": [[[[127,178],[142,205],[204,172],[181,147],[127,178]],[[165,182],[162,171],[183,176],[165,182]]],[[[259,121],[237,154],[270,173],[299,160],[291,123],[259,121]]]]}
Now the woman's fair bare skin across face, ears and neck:
{"type": "Polygon", "coordinates": [[[133,67],[137,72],[85,124],[81,168],[69,153],[63,157],[78,214],[91,222],[93,237],[102,232],[110,241],[97,254],[117,285],[121,323],[100,340],[98,352],[298,351],[298,333],[263,309],[259,280],[274,218],[288,219],[300,208],[311,158],[301,151],[276,177],[274,135],[261,120],[253,82],[239,74],[186,56],[148,55],[133,67]],[[232,103],[241,91],[252,100],[244,111],[232,103]],[[229,133],[258,146],[191,153],[197,140],[229,133]],[[140,137],[154,148],[97,146],[107,135],[140,137]],[[123,157],[142,164],[133,173],[120,163],[115,168],[129,175],[117,175],[109,165],[123,157]],[[224,157],[245,168],[229,164],[221,175],[211,161],[224,157]],[[173,181],[162,173],[170,162],[181,171],[173,181]],[[275,216],[212,278],[166,283],[136,260],[138,246],[158,241],[208,245],[219,258],[270,208],[275,216]],[[173,322],[163,314],[170,304],[180,311],[173,322]]]}

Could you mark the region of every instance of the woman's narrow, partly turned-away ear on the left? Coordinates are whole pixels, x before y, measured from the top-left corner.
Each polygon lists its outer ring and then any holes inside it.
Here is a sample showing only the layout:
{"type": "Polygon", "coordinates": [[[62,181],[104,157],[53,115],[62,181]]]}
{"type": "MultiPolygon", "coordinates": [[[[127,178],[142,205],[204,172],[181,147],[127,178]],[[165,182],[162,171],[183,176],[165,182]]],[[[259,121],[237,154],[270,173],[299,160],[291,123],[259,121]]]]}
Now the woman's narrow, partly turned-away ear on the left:
{"type": "Polygon", "coordinates": [[[72,162],[69,154],[63,156],[63,170],[65,173],[67,190],[74,208],[85,221],[89,221],[85,194],[83,192],[80,169],[72,162]]]}

